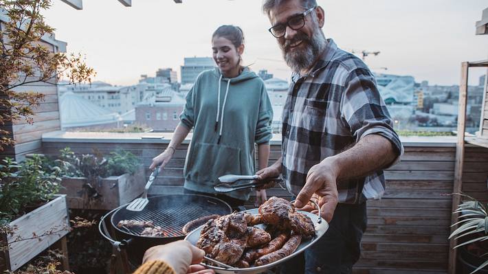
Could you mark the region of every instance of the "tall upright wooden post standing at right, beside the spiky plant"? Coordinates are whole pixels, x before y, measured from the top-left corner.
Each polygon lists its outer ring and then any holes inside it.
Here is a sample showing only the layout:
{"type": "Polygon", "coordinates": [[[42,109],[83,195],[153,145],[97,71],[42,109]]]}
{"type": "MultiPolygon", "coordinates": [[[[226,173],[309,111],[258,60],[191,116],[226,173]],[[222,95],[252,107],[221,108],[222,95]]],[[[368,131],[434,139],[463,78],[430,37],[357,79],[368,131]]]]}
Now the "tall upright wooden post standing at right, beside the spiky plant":
{"type": "MultiPolygon", "coordinates": [[[[466,103],[467,103],[467,71],[469,69],[469,63],[463,62],[461,64],[461,84],[459,85],[459,107],[458,107],[458,141],[456,144],[456,163],[454,165],[454,187],[453,193],[461,193],[463,188],[463,160],[464,160],[464,145],[465,145],[465,130],[466,130],[466,103]]],[[[452,196],[452,212],[454,212],[459,203],[461,202],[461,196],[452,196]]],[[[454,224],[458,218],[458,214],[452,214],[451,223],[454,224]]],[[[451,232],[456,227],[452,227],[451,232]]],[[[456,240],[452,238],[449,242],[449,265],[448,273],[456,273],[456,240]]]]}

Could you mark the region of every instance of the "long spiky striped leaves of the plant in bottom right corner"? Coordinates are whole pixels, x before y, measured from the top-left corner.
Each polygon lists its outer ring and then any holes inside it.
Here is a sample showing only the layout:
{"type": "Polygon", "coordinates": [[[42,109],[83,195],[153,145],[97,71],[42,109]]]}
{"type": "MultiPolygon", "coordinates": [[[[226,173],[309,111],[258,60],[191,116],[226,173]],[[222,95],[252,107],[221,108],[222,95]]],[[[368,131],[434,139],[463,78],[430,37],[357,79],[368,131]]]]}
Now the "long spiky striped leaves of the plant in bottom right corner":
{"type": "Polygon", "coordinates": [[[469,198],[469,201],[463,201],[453,214],[461,214],[459,221],[451,227],[459,227],[454,230],[449,238],[463,239],[461,243],[454,247],[467,247],[470,253],[478,258],[484,258],[485,262],[478,266],[476,271],[488,266],[488,210],[487,206],[480,203],[475,198],[465,194],[457,194],[469,198]]]}

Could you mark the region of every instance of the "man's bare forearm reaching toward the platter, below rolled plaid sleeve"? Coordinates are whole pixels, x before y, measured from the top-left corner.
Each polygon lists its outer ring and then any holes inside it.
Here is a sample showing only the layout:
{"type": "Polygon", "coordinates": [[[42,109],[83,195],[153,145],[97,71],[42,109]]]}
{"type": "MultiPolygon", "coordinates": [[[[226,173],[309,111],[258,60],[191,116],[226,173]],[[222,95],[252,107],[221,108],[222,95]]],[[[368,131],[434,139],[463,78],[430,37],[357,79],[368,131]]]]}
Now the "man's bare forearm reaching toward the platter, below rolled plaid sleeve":
{"type": "Polygon", "coordinates": [[[337,175],[337,181],[370,174],[390,165],[397,157],[393,145],[381,135],[367,135],[352,148],[322,162],[329,163],[337,175]]]}

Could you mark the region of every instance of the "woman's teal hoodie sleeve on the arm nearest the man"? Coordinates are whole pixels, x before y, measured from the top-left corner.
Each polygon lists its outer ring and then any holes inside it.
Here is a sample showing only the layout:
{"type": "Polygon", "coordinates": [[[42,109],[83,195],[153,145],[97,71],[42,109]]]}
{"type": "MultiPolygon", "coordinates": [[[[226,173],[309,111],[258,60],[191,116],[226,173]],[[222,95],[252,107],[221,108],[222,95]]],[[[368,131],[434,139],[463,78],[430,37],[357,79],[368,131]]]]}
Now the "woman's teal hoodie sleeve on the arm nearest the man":
{"type": "Polygon", "coordinates": [[[258,121],[256,123],[256,135],[254,137],[256,144],[266,144],[273,137],[271,129],[271,122],[273,122],[273,108],[269,100],[268,93],[263,84],[259,100],[258,121]]]}

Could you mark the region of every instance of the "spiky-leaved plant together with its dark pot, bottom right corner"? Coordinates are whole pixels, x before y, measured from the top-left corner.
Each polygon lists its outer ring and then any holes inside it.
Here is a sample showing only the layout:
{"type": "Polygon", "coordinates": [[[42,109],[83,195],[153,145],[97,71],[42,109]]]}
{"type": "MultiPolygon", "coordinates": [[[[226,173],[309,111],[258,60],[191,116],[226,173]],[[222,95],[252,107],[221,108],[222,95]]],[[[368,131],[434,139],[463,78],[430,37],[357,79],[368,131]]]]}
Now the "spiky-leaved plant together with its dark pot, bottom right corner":
{"type": "Polygon", "coordinates": [[[475,198],[465,194],[458,194],[469,198],[458,206],[453,214],[460,214],[459,225],[451,238],[459,239],[457,248],[458,260],[463,267],[463,273],[488,273],[488,210],[487,206],[475,198]]]}

